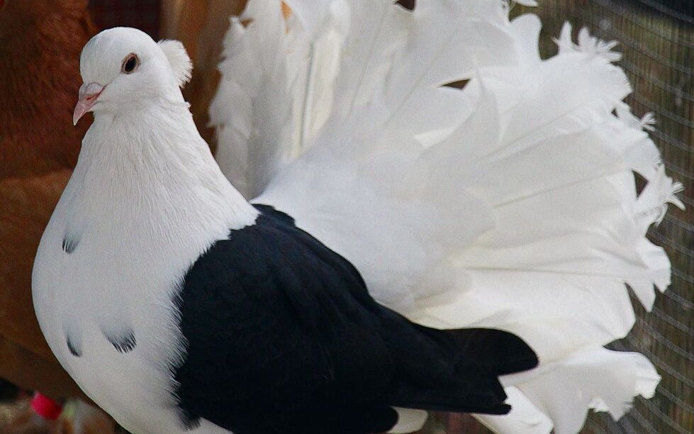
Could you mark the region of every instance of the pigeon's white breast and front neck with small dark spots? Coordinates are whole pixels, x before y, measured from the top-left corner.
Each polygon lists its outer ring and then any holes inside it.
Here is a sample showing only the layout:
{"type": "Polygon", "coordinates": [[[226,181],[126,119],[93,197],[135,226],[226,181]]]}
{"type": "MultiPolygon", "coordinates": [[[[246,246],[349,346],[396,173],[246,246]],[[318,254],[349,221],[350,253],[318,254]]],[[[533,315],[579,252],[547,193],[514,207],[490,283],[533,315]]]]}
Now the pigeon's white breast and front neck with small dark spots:
{"type": "Polygon", "coordinates": [[[148,157],[165,138],[133,149],[124,142],[136,132],[117,123],[97,120],[84,140],[38,250],[34,303],[53,352],[94,401],[125,425],[176,433],[184,430],[171,374],[185,352],[181,282],[210,245],[257,213],[235,207],[224,182],[148,157]]]}

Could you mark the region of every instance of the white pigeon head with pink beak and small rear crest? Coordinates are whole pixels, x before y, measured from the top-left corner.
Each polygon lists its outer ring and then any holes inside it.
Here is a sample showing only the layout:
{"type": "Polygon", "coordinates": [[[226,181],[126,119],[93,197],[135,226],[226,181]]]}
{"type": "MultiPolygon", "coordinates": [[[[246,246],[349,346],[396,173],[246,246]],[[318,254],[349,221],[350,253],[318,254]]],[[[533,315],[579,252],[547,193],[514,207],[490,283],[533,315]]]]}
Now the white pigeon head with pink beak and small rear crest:
{"type": "Polygon", "coordinates": [[[84,84],[72,121],[88,111],[137,109],[162,99],[181,100],[192,64],[177,40],[156,43],[135,28],[117,27],[95,35],[82,50],[79,72],[84,84]]]}

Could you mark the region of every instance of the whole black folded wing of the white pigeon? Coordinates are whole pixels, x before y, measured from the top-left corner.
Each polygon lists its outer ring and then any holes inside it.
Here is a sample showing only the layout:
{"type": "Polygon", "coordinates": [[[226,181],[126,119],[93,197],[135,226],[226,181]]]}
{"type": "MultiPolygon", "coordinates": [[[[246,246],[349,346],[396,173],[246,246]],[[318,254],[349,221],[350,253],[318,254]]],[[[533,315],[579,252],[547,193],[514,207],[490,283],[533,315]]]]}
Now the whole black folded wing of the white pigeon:
{"type": "Polygon", "coordinates": [[[508,411],[496,379],[508,357],[497,369],[486,352],[520,348],[510,363],[527,369],[537,363],[527,345],[498,330],[454,336],[410,323],[371,299],[357,270],[289,216],[258,208],[256,224],[215,243],[184,279],[188,347],[174,379],[185,423],[354,434],[391,428],[391,405],[508,411]]]}

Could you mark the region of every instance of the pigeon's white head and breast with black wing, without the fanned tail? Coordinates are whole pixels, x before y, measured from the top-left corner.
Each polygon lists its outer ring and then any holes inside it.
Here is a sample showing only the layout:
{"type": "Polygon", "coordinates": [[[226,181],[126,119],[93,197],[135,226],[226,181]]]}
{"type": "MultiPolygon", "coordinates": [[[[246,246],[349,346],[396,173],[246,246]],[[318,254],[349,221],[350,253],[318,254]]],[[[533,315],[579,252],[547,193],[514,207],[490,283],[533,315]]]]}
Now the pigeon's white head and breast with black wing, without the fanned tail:
{"type": "Polygon", "coordinates": [[[47,342],[133,433],[370,433],[391,406],[505,413],[535,353],[499,330],[410,323],[291,217],[220,171],[179,86],[179,43],[139,30],[82,52],[94,112],[33,272],[47,342]]]}

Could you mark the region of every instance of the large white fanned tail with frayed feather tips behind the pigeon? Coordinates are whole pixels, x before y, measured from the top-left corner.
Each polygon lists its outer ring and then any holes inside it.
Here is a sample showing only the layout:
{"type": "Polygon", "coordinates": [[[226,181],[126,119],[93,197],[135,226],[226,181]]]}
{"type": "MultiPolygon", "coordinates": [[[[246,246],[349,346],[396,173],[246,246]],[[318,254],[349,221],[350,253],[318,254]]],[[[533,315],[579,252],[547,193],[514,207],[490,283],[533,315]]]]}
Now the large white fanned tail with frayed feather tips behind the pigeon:
{"type": "Polygon", "coordinates": [[[650,362],[603,345],[634,324],[625,284],[650,308],[670,282],[644,234],[681,184],[622,103],[614,44],[566,25],[542,60],[537,16],[498,0],[286,4],[251,0],[226,36],[211,118],[236,187],[413,321],[529,343],[541,366],[503,380],[515,409],[491,428],[573,433],[652,396],[650,362]]]}

